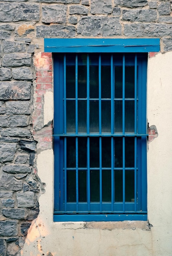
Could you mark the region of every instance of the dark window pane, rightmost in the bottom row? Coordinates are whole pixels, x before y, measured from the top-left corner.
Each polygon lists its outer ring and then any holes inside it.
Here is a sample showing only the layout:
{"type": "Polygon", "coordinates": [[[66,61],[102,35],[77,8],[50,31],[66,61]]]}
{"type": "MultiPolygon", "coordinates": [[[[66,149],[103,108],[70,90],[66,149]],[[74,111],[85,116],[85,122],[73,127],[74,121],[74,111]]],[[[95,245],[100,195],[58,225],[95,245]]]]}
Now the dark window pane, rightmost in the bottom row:
{"type": "Polygon", "coordinates": [[[125,179],[126,202],[132,202],[135,199],[135,171],[126,171],[125,179]]]}

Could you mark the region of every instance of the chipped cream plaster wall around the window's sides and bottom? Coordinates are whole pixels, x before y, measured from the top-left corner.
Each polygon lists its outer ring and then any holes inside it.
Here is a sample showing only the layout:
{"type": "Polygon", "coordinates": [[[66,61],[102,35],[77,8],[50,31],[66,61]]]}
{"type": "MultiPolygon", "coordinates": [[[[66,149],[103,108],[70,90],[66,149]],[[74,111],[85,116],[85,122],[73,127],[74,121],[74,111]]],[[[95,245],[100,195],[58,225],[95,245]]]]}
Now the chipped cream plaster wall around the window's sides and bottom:
{"type": "Polygon", "coordinates": [[[37,169],[46,192],[40,195],[40,213],[29,229],[22,255],[172,255],[171,67],[172,52],[148,60],[148,122],[159,133],[148,149],[148,220],[152,227],[141,221],[53,222],[53,150],[44,150],[38,154],[37,169]]]}

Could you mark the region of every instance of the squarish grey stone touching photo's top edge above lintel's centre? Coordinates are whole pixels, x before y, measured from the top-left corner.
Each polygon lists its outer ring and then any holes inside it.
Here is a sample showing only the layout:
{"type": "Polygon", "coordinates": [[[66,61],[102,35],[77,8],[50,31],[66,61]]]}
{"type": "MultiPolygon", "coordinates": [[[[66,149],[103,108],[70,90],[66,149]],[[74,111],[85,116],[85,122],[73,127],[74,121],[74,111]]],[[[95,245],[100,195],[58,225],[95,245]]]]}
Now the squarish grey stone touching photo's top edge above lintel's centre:
{"type": "Polygon", "coordinates": [[[91,0],[91,13],[108,14],[112,12],[111,0],[91,0]]]}

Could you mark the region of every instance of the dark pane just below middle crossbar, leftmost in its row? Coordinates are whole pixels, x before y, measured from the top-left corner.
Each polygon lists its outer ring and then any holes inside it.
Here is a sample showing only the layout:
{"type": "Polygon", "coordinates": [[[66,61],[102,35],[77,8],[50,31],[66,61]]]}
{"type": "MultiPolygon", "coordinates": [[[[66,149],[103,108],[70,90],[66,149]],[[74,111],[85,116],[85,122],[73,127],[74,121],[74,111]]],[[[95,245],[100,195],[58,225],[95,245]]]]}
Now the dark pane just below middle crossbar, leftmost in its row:
{"type": "Polygon", "coordinates": [[[67,138],[67,168],[76,167],[75,137],[67,138]]]}

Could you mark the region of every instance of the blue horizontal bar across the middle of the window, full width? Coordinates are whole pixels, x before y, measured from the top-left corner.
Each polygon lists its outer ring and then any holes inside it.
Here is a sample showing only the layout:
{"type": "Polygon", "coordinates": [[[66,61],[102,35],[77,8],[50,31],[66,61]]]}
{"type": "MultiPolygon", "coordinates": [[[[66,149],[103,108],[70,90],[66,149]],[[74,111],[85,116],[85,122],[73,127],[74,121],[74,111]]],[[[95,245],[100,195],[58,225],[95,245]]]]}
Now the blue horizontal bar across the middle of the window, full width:
{"type": "Polygon", "coordinates": [[[134,134],[134,133],[115,133],[115,134],[109,134],[109,133],[102,133],[102,134],[97,134],[97,133],[78,133],[77,135],[75,133],[68,133],[68,134],[53,134],[53,137],[143,137],[143,136],[148,136],[148,134],[134,134]]]}

